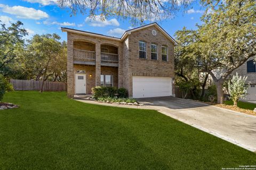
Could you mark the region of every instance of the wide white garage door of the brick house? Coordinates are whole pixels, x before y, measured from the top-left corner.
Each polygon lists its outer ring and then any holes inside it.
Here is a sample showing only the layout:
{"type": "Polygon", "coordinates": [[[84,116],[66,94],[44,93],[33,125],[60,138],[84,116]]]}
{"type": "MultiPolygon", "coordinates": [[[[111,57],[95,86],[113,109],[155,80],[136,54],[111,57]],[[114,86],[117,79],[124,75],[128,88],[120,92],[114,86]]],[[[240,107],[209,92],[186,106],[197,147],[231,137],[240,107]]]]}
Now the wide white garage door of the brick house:
{"type": "Polygon", "coordinates": [[[172,95],[172,78],[132,77],[133,98],[160,97],[172,95]]]}

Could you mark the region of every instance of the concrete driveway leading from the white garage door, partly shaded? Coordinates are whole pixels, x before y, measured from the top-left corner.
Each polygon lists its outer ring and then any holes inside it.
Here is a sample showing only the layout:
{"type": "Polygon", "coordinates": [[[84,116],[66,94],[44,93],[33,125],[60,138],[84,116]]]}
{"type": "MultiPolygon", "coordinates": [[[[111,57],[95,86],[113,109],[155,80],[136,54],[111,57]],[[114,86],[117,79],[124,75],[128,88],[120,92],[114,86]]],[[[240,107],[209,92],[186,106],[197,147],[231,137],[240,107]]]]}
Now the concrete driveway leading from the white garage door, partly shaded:
{"type": "Polygon", "coordinates": [[[256,152],[256,116],[175,97],[143,98],[152,109],[256,152]]]}

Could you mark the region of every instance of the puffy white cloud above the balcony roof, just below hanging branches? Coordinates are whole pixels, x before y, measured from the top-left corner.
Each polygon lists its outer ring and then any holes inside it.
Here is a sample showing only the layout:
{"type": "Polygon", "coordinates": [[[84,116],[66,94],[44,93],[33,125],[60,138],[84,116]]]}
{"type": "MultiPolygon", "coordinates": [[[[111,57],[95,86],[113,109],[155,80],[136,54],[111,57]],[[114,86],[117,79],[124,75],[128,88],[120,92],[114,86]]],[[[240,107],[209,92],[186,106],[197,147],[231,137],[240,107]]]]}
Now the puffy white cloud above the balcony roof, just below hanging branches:
{"type": "Polygon", "coordinates": [[[105,27],[107,25],[119,26],[119,22],[116,19],[107,20],[105,18],[101,18],[100,15],[95,16],[95,19],[87,16],[85,22],[92,27],[105,27]]]}

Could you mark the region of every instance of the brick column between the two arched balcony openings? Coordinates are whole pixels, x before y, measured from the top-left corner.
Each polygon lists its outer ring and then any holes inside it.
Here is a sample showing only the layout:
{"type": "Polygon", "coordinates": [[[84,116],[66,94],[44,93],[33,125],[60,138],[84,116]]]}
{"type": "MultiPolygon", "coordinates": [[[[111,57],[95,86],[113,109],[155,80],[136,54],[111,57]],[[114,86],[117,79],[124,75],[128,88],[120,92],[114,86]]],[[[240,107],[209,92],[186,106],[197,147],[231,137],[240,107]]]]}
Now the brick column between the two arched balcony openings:
{"type": "Polygon", "coordinates": [[[95,45],[95,86],[100,86],[100,43],[96,43],[95,45]]]}

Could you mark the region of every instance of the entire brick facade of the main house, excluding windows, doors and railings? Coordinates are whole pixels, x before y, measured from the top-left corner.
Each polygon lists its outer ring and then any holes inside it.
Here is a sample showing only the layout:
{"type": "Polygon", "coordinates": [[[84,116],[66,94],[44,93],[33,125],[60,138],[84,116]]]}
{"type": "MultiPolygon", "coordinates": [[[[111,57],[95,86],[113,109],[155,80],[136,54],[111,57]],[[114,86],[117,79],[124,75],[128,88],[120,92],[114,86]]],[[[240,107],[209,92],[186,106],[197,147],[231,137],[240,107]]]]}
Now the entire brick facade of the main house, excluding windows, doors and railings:
{"type": "MultiPolygon", "coordinates": [[[[83,35],[83,33],[67,31],[68,43],[68,97],[75,95],[75,74],[77,70],[84,70],[86,73],[86,93],[91,93],[91,88],[100,85],[100,75],[113,75],[115,87],[124,87],[132,96],[132,77],[170,77],[174,78],[174,43],[164,35],[155,25],[139,29],[129,33],[124,39],[103,38],[93,35],[83,35]],[[152,30],[156,30],[153,36],[152,30]],[[147,43],[147,58],[139,58],[139,41],[147,43]],[[150,44],[157,44],[158,60],[151,60],[150,44]],[[168,60],[162,61],[162,46],[167,46],[168,60]],[[113,48],[111,48],[113,47],[113,48]],[[101,50],[108,48],[108,53],[118,54],[118,65],[103,66],[101,63],[101,50]],[[90,50],[95,52],[95,64],[74,64],[74,49],[90,50]],[[116,51],[117,50],[117,51],[116,51]],[[90,77],[89,75],[92,75],[90,77]]],[[[174,95],[174,84],[172,84],[172,94],[174,95]]]]}

